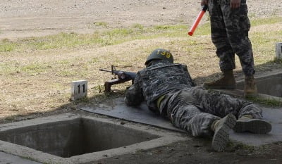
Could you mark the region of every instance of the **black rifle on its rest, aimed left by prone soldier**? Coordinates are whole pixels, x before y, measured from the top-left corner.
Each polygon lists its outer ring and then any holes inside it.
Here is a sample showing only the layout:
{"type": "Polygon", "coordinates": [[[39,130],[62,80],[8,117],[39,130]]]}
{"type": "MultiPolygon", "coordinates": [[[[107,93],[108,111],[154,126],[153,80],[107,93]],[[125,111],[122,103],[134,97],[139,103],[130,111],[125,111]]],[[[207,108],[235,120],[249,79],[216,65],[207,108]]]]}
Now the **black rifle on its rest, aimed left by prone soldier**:
{"type": "Polygon", "coordinates": [[[122,82],[127,82],[131,80],[132,84],[134,82],[136,73],[135,72],[128,72],[128,71],[123,71],[123,70],[116,70],[114,65],[111,65],[111,70],[104,70],[104,69],[99,69],[100,71],[104,72],[111,72],[111,75],[117,75],[118,78],[114,80],[109,80],[104,83],[105,87],[105,92],[111,92],[111,86],[114,84],[119,84],[122,82]]]}

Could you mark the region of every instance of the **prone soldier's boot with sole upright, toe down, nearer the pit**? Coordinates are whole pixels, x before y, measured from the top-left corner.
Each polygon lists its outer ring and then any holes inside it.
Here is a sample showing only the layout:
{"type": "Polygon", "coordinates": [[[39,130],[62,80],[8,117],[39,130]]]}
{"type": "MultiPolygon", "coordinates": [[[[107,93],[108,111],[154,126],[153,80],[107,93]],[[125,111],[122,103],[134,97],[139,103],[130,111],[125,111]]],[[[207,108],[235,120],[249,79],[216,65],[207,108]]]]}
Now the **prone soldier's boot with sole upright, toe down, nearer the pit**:
{"type": "Polygon", "coordinates": [[[228,114],[220,120],[215,120],[212,123],[214,137],[212,138],[212,148],[215,151],[223,151],[229,141],[229,130],[233,129],[236,123],[236,118],[233,114],[228,114]]]}

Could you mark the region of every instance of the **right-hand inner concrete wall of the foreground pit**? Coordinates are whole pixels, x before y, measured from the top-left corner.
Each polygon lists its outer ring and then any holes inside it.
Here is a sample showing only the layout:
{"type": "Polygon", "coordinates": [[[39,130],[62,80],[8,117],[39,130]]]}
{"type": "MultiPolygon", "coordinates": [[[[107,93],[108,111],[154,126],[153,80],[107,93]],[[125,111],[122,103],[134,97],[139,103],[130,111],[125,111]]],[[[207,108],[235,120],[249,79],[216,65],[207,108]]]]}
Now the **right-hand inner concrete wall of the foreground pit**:
{"type": "Polygon", "coordinates": [[[156,139],[159,136],[106,122],[83,119],[85,151],[96,152],[156,139]]]}

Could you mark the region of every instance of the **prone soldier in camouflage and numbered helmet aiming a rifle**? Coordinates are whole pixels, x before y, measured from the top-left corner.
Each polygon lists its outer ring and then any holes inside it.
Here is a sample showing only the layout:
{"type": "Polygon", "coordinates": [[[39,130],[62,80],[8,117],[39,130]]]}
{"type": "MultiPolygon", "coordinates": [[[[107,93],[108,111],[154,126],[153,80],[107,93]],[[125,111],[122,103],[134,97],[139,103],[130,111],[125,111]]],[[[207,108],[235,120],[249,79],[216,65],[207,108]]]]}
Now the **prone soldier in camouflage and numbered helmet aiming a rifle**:
{"type": "Polygon", "coordinates": [[[151,111],[168,118],[175,127],[195,137],[213,136],[216,151],[225,149],[228,131],[233,128],[235,132],[258,134],[271,130],[255,104],[195,87],[187,66],[174,64],[169,51],[152,51],[145,65],[125,93],[128,106],[145,100],[151,111]]]}

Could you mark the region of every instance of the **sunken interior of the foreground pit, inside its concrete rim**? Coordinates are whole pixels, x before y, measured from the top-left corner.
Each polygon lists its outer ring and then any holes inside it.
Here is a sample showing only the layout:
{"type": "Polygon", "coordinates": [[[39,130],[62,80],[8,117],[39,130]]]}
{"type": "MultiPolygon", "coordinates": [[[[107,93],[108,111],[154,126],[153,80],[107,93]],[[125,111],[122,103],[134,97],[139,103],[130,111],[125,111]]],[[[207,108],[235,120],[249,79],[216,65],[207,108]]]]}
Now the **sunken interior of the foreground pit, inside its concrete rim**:
{"type": "Polygon", "coordinates": [[[159,136],[87,118],[49,122],[0,132],[13,144],[68,158],[156,139],[159,136]]]}

